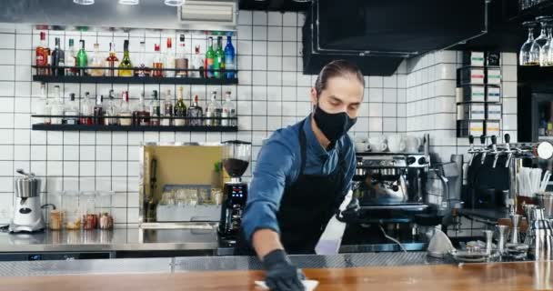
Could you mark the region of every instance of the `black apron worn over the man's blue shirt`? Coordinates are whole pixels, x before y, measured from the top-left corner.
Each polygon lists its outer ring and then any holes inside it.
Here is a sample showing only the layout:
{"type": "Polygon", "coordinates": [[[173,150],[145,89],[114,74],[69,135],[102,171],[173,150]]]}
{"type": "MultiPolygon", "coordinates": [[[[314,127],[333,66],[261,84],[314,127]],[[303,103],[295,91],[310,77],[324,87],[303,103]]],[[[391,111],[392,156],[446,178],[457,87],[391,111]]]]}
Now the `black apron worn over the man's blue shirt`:
{"type": "MultiPolygon", "coordinates": [[[[280,241],[288,254],[314,254],[315,246],[330,218],[337,213],[344,200],[344,177],[347,165],[338,154],[338,165],[330,175],[306,175],[307,141],[299,125],[301,166],[296,182],[287,186],[277,212],[280,241]]],[[[246,242],[244,232],[236,242],[236,255],[255,256],[255,251],[246,242]]]]}

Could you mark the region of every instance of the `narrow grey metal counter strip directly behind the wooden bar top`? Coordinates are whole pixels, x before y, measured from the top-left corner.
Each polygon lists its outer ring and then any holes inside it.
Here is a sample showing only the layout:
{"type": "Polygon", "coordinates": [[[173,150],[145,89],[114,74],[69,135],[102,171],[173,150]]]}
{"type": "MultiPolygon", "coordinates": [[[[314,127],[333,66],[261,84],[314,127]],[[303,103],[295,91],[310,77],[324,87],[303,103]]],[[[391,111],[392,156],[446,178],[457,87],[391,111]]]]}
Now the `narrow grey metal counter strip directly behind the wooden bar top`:
{"type": "MultiPolygon", "coordinates": [[[[336,256],[290,256],[300,268],[420,266],[447,264],[426,253],[366,253],[336,256]]],[[[0,276],[178,273],[189,271],[256,270],[255,256],[166,257],[113,260],[0,262],[0,276]]]]}

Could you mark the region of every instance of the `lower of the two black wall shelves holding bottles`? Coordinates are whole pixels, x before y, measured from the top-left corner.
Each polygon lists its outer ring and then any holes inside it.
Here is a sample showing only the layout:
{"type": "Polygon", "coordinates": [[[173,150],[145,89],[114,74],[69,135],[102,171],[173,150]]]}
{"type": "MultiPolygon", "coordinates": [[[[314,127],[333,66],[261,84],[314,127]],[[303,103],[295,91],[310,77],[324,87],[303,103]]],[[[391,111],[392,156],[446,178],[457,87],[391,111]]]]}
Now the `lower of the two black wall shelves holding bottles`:
{"type": "Polygon", "coordinates": [[[47,131],[126,131],[126,132],[237,132],[238,126],[176,125],[46,125],[35,124],[33,130],[47,131]]]}

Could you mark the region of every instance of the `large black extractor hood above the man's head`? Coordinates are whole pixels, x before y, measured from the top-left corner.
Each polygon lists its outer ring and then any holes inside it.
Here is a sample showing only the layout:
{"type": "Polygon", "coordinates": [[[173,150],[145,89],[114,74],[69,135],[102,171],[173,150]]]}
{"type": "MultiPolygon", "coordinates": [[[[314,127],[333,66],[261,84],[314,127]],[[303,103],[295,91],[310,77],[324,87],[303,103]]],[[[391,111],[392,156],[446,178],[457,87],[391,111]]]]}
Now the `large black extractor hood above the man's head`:
{"type": "Polygon", "coordinates": [[[489,1],[315,0],[303,26],[304,73],[342,58],[365,75],[392,75],[408,57],[486,34],[489,1]]]}

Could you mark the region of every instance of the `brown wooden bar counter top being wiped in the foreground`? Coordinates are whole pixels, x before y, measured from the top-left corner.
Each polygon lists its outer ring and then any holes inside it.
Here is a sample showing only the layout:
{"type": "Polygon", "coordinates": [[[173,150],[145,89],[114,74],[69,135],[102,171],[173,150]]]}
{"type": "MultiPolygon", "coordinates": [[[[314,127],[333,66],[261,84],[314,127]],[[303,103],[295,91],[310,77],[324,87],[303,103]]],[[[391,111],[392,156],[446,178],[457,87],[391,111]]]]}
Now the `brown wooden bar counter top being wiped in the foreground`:
{"type": "MultiPolygon", "coordinates": [[[[553,262],[304,269],[318,291],[553,290],[553,262]]],[[[0,290],[261,290],[258,270],[0,277],[0,290]]]]}

